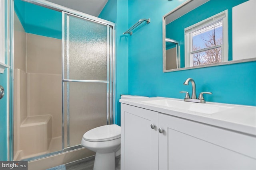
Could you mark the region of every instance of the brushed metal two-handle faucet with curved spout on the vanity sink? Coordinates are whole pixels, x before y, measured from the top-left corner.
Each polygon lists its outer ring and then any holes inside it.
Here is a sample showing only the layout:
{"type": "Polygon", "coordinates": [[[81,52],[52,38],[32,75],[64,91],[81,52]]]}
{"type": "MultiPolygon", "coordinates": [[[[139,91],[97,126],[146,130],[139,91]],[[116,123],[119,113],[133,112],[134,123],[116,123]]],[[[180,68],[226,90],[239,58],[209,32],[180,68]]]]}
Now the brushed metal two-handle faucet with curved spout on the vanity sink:
{"type": "Polygon", "coordinates": [[[189,93],[185,91],[181,91],[180,93],[186,93],[186,96],[184,98],[185,102],[196,102],[196,103],[205,103],[203,94],[212,94],[211,92],[201,92],[199,94],[199,98],[196,98],[196,83],[192,78],[188,78],[183,84],[188,85],[188,83],[191,82],[192,84],[192,97],[190,98],[189,93]]]}

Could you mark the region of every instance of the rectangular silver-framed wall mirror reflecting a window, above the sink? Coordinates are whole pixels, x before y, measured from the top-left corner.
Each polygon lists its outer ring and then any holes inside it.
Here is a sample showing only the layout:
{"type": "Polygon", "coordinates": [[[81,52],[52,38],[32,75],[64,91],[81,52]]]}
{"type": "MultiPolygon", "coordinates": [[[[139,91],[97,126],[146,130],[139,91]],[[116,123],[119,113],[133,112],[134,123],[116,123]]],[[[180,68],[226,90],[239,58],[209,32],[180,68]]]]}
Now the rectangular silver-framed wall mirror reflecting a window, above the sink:
{"type": "Polygon", "coordinates": [[[186,0],[164,15],[163,72],[256,61],[255,6],[255,0],[186,0]],[[195,40],[196,35],[202,42],[195,40]],[[169,57],[168,50],[175,45],[176,56],[169,57]],[[206,53],[216,56],[206,62],[206,53]],[[201,61],[195,62],[198,58],[201,61]]]}

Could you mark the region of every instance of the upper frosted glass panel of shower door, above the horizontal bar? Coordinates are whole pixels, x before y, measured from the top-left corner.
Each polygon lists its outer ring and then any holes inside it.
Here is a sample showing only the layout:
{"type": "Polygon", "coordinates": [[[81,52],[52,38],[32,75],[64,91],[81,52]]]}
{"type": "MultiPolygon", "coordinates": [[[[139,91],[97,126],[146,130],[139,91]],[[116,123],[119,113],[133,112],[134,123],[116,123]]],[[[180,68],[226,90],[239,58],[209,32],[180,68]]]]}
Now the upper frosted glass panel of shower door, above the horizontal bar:
{"type": "Polygon", "coordinates": [[[108,25],[65,14],[65,79],[107,80],[108,25]]]}

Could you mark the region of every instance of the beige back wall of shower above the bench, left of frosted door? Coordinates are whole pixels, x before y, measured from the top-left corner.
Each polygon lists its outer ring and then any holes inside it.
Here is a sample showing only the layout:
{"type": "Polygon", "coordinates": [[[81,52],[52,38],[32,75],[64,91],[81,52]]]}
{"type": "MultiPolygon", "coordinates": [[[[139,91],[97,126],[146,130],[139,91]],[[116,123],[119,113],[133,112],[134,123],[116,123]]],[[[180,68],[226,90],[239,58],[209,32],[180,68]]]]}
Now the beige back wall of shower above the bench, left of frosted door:
{"type": "Polygon", "coordinates": [[[26,33],[28,115],[52,115],[52,137],[62,130],[62,44],[60,39],[26,33]]]}

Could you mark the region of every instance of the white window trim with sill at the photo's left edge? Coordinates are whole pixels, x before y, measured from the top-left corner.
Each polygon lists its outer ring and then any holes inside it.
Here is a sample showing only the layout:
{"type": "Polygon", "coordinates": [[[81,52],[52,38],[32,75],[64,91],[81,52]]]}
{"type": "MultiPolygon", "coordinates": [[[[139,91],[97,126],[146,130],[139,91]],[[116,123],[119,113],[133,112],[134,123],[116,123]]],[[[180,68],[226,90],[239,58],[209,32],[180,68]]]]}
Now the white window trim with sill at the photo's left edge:
{"type": "Polygon", "coordinates": [[[0,0],[0,73],[10,66],[5,64],[5,0],[0,0]]]}

